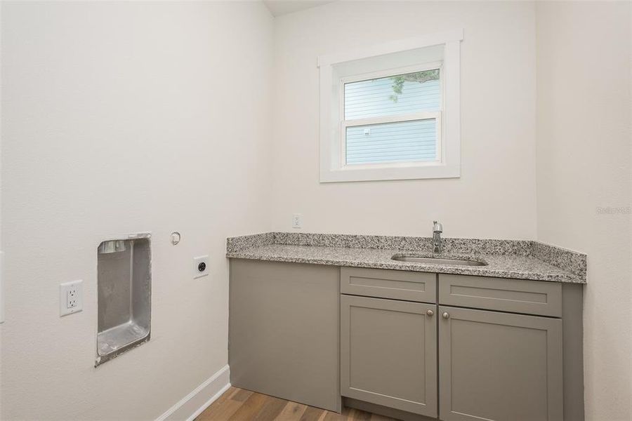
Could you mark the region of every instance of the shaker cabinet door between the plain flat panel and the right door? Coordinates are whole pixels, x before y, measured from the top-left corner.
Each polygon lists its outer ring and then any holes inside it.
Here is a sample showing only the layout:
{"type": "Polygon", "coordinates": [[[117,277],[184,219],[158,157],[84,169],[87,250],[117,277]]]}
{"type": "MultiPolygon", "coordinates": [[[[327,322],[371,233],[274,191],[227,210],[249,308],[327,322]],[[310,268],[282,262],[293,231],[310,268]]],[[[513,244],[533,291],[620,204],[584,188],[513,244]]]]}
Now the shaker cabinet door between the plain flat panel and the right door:
{"type": "Polygon", "coordinates": [[[341,394],[437,416],[436,305],[341,295],[341,394]]]}

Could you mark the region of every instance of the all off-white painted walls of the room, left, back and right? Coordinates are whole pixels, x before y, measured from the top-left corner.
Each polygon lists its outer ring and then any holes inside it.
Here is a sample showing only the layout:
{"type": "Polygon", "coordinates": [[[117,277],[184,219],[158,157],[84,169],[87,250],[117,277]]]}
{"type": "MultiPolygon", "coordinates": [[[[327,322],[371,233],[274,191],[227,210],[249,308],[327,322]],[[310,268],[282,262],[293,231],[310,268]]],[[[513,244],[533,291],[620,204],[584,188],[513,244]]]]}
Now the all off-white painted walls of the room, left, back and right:
{"type": "Polygon", "coordinates": [[[227,361],[225,236],[303,213],[305,232],[428,235],[440,219],[447,236],[588,253],[586,415],[630,420],[631,215],[597,208],[632,203],[631,13],[336,2],[273,23],[240,2],[3,3],[0,418],[163,413],[227,361]],[[320,185],[317,55],[454,28],[461,178],[320,185]],[[138,231],[152,340],[95,370],[96,245],[138,231]],[[193,281],[205,253],[211,276],[193,281]],[[60,319],[74,279],[84,312],[60,319]]]}

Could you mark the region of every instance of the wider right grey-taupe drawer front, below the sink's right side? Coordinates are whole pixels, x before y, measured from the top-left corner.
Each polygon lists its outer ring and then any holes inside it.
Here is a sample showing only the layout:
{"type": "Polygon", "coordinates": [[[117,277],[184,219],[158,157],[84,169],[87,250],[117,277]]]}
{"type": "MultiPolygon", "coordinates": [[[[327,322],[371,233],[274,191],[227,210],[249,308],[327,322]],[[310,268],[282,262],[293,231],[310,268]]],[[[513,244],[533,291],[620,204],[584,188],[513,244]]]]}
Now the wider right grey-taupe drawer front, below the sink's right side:
{"type": "Polygon", "coordinates": [[[561,317],[562,285],[527,279],[441,274],[439,303],[561,317]]]}

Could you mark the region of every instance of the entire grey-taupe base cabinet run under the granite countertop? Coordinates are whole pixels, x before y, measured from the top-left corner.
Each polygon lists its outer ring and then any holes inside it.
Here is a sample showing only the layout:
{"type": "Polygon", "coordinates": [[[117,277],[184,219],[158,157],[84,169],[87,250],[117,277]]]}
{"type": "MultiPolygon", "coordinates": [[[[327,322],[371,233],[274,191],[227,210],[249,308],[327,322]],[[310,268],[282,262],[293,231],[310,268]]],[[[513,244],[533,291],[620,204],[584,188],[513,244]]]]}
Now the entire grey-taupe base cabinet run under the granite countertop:
{"type": "Polygon", "coordinates": [[[583,421],[582,286],[233,259],[236,387],[405,420],[583,421]]]}

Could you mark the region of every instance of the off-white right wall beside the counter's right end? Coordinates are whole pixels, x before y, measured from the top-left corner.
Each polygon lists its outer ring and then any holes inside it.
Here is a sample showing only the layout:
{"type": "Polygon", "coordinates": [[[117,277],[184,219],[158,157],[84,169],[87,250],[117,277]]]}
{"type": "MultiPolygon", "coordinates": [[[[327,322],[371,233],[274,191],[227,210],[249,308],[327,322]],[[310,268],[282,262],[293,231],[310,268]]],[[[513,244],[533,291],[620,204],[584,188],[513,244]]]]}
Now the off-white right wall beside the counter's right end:
{"type": "Polygon", "coordinates": [[[586,420],[632,420],[632,7],[537,4],[538,239],[588,253],[586,420]]]}

